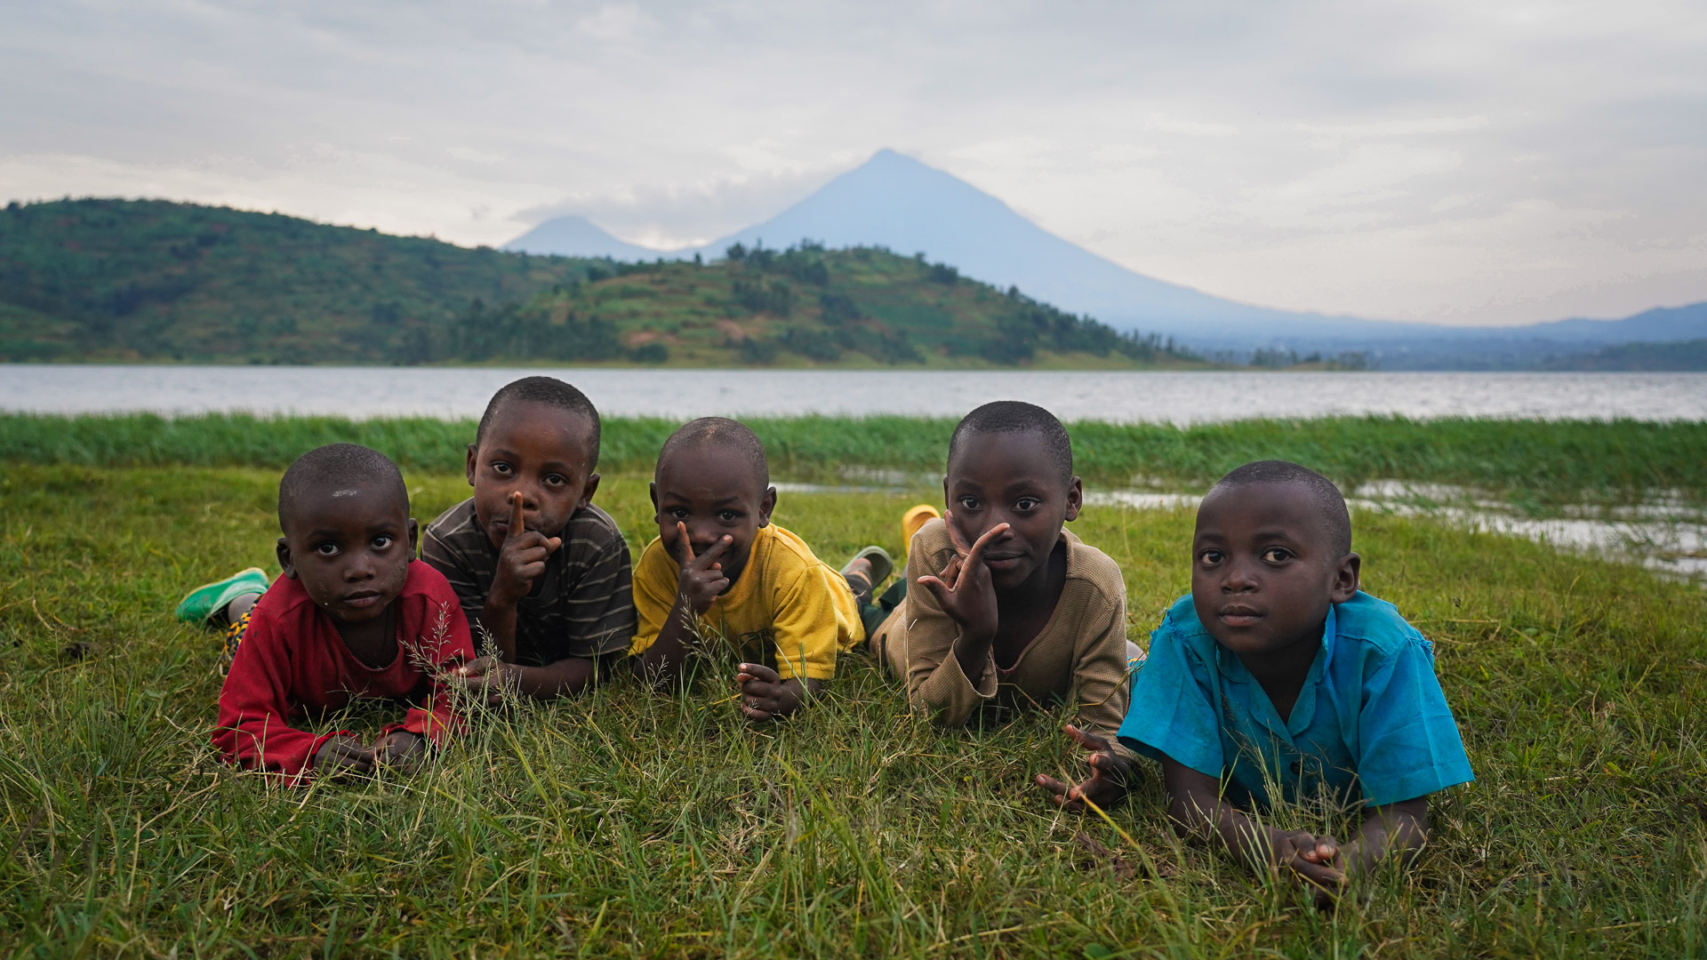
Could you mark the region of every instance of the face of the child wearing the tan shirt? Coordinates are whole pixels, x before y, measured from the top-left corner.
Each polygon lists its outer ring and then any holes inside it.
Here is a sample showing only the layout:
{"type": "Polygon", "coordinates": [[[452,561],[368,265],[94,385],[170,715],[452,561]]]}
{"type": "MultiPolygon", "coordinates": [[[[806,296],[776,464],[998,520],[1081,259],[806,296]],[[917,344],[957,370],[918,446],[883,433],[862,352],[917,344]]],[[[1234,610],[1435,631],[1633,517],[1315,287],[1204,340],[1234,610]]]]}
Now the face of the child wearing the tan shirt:
{"type": "Polygon", "coordinates": [[[942,499],[968,543],[999,523],[1007,524],[985,548],[983,560],[990,582],[1012,589],[1046,574],[1062,524],[1079,518],[1084,489],[1077,477],[1062,480],[1040,434],[971,432],[954,449],[942,499]]]}

